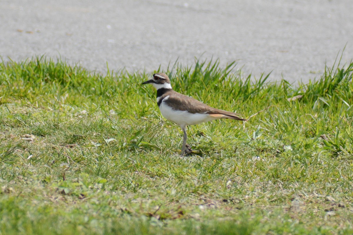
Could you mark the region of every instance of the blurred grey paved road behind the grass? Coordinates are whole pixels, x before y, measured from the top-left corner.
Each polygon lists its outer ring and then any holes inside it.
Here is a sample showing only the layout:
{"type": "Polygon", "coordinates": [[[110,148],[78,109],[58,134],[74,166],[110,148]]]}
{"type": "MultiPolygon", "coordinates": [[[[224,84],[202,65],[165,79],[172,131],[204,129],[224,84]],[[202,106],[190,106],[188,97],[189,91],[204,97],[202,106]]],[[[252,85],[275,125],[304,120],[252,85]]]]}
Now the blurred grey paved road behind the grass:
{"type": "Polygon", "coordinates": [[[246,74],[307,81],[353,58],[351,0],[0,0],[0,56],[61,56],[98,72],[152,73],[179,57],[238,60],[246,74]]]}

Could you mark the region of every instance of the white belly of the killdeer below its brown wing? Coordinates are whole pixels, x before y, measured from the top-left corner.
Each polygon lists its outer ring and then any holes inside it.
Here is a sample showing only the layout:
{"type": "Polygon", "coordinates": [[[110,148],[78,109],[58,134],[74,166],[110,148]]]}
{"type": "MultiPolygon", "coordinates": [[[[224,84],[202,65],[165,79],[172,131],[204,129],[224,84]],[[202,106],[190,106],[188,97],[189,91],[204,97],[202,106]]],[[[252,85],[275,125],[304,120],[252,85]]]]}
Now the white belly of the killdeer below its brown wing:
{"type": "MultiPolygon", "coordinates": [[[[167,97],[164,99],[167,99],[167,97]]],[[[163,117],[174,123],[177,123],[180,126],[196,125],[202,122],[208,122],[217,119],[211,117],[207,113],[189,113],[187,111],[173,110],[171,107],[164,103],[164,100],[159,106],[159,109],[163,117]]]]}

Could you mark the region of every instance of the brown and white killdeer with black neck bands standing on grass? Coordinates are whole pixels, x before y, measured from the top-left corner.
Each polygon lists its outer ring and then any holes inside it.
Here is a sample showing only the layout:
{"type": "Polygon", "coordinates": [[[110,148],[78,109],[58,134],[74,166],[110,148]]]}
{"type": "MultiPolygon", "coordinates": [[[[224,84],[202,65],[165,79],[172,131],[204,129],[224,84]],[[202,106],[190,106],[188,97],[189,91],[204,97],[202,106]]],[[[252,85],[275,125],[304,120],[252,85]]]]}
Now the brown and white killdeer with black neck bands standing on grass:
{"type": "Polygon", "coordinates": [[[150,80],[142,84],[148,83],[157,89],[157,104],[163,117],[177,123],[184,132],[180,156],[185,153],[186,126],[222,118],[246,121],[246,119],[238,117],[238,113],[215,109],[201,101],[173,91],[170,80],[164,73],[155,73],[150,80]]]}

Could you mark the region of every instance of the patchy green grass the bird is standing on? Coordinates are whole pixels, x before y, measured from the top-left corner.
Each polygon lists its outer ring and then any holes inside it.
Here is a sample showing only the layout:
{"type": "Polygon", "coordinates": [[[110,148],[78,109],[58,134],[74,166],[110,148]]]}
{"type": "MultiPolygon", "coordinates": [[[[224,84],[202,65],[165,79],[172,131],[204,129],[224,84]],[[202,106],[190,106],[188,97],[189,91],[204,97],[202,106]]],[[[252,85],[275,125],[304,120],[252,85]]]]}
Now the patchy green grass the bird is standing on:
{"type": "Polygon", "coordinates": [[[164,70],[250,118],[189,126],[180,158],[151,74],[2,62],[0,234],[352,234],[353,63],[299,85],[235,66],[164,70]]]}

